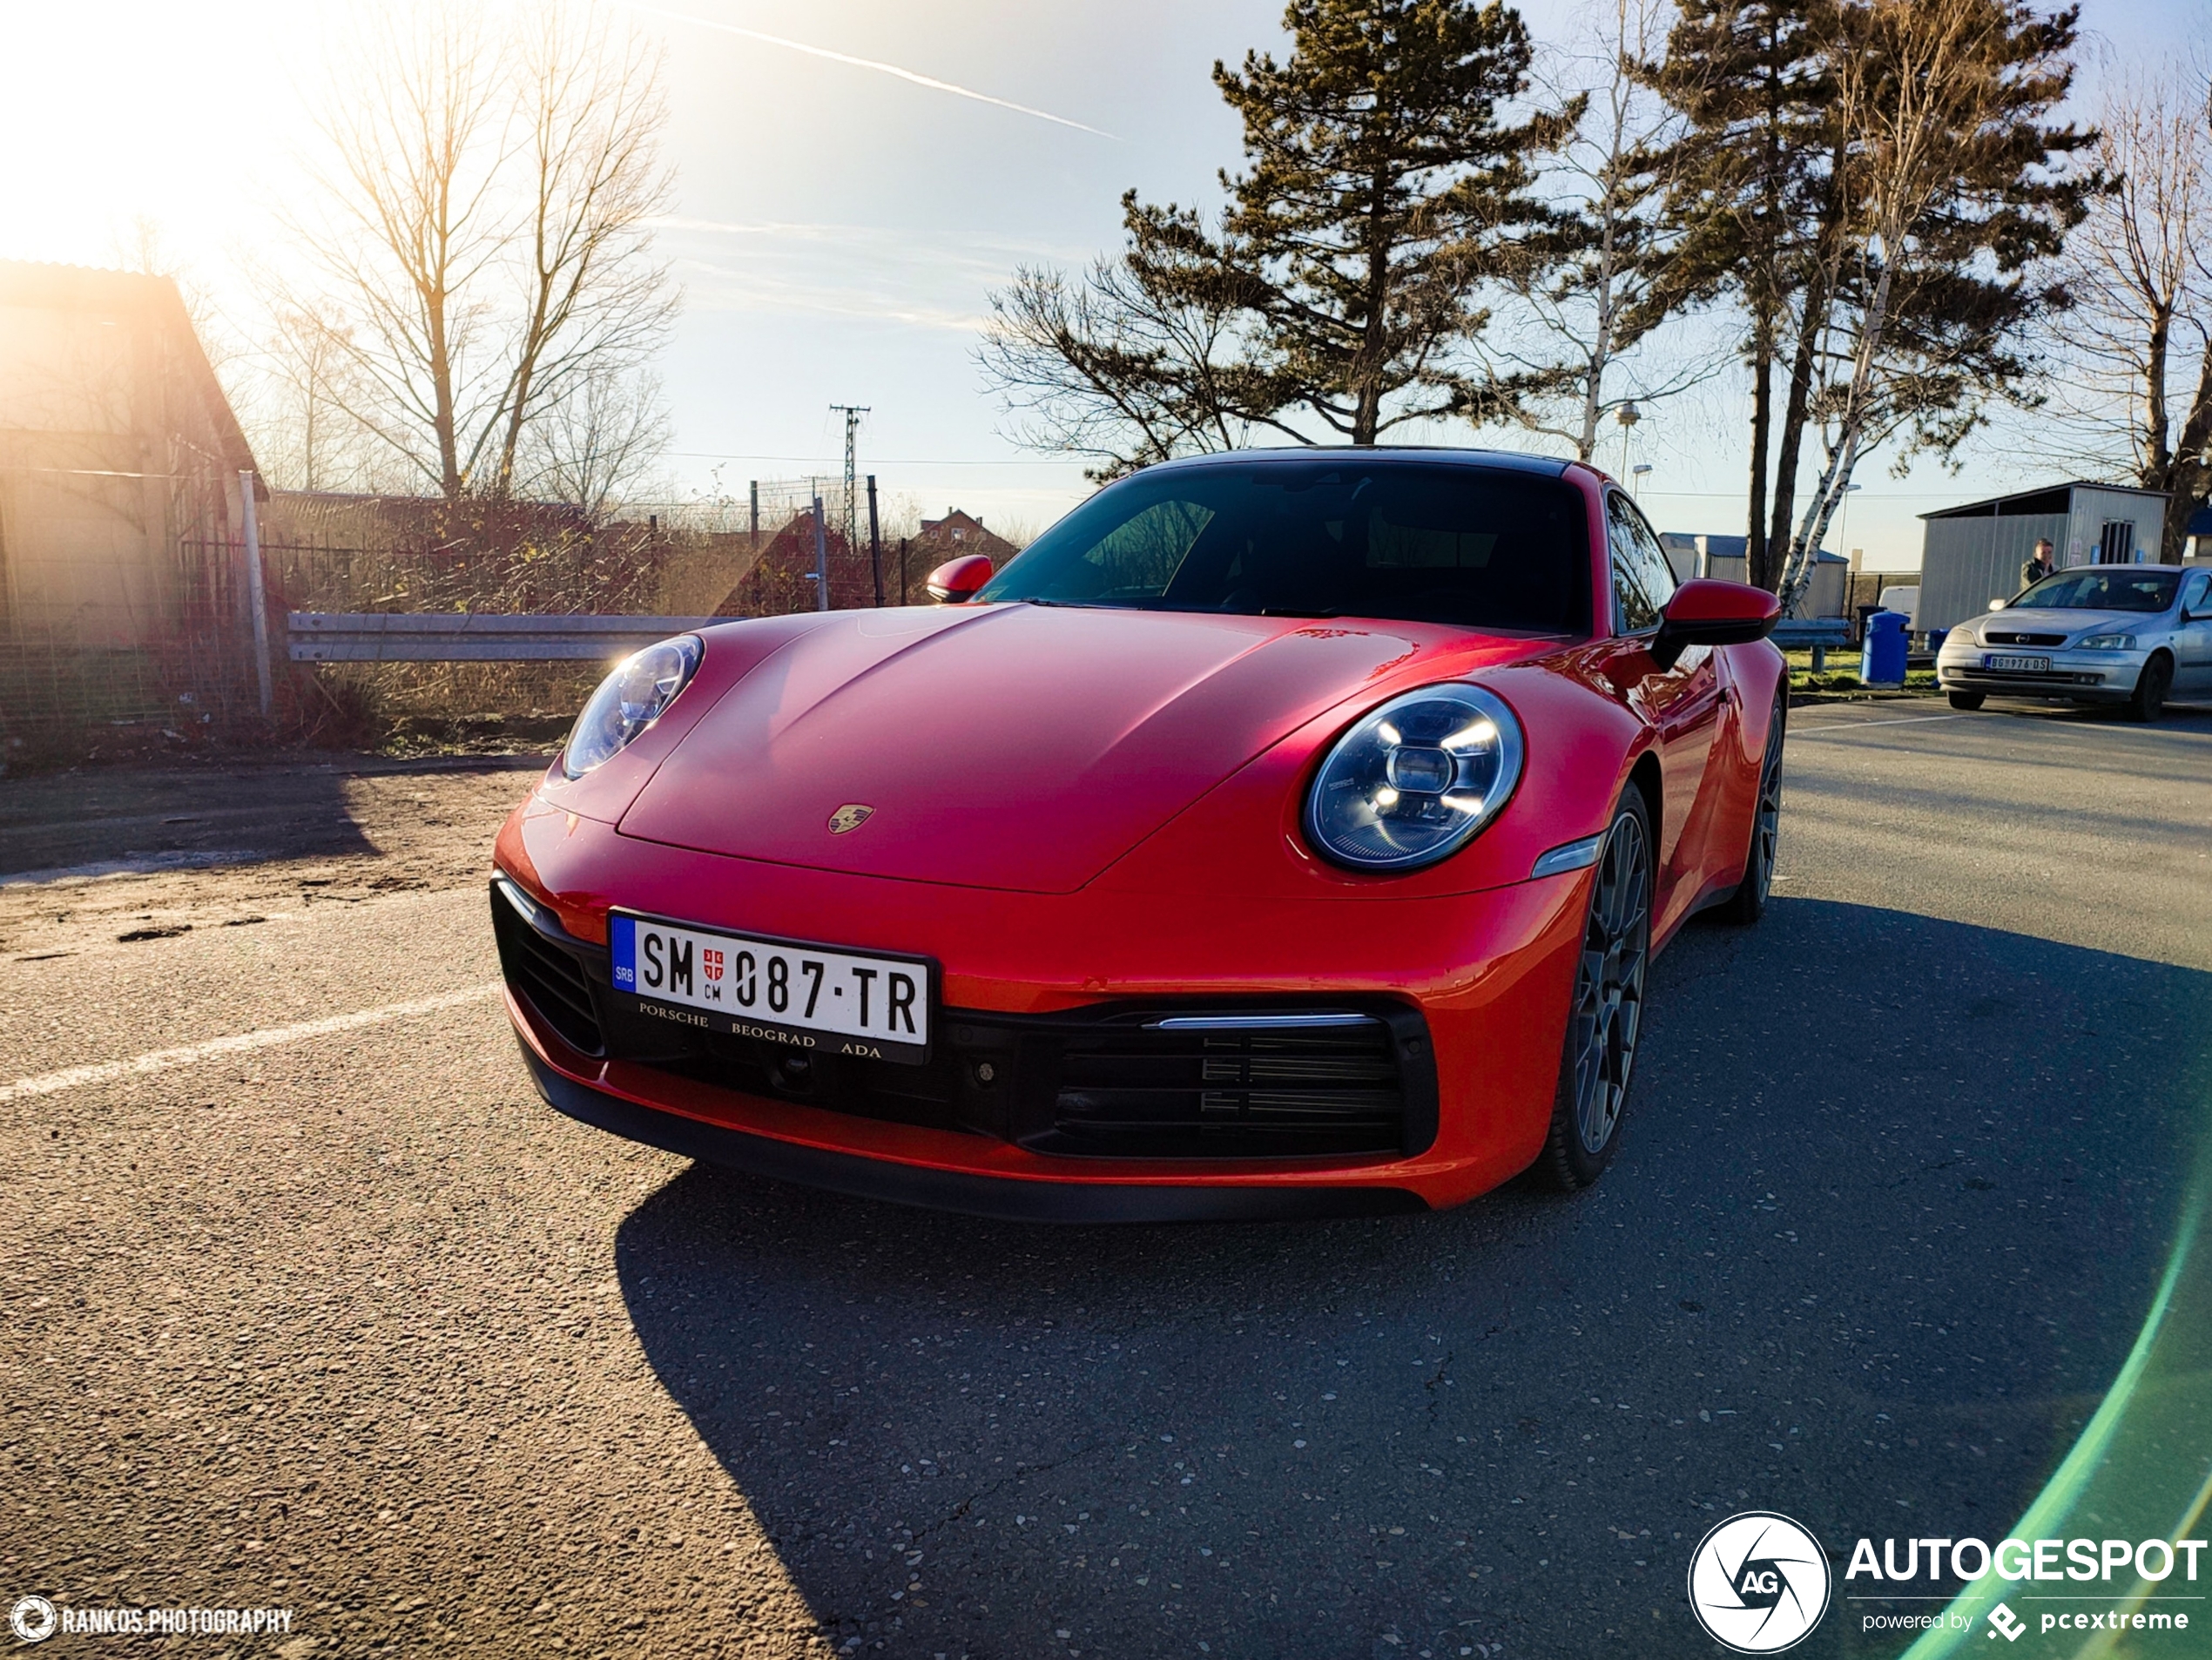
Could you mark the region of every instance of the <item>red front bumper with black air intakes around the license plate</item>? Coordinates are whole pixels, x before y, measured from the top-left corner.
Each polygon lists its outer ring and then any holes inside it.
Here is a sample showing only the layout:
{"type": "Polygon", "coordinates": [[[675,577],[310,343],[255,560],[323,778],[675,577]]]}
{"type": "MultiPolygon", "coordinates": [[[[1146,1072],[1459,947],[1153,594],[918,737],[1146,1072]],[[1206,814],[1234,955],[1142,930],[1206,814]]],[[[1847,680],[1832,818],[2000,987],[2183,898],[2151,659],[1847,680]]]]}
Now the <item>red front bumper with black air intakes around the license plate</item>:
{"type": "Polygon", "coordinates": [[[1150,907],[765,868],[564,819],[524,808],[500,837],[502,872],[540,912],[524,938],[522,912],[493,896],[509,1011],[546,1100],[635,1140],[984,1215],[1188,1220],[1458,1204],[1526,1169],[1551,1120],[1586,872],[1416,903],[1150,907]],[[633,1023],[593,967],[617,896],[706,925],[933,954],[938,1054],[927,1069],[832,1058],[825,1089],[750,1045],[633,1023]],[[538,945],[582,972],[533,972],[524,947],[538,945]],[[1071,950],[1088,972],[1057,967],[1071,950]],[[1256,1040],[1133,1047],[1164,1009],[1283,1007],[1365,1011],[1369,1047],[1287,1060],[1256,1040]],[[1303,1111],[1329,1067],[1352,1096],[1380,1093],[1378,1062],[1391,1116],[1358,1100],[1303,1111]],[[1133,1138],[1117,1102],[1126,1085],[1172,1082],[1161,1067],[1186,1080],[1181,1120],[1166,1140],[1146,1138],[1159,1127],[1133,1138]]]}

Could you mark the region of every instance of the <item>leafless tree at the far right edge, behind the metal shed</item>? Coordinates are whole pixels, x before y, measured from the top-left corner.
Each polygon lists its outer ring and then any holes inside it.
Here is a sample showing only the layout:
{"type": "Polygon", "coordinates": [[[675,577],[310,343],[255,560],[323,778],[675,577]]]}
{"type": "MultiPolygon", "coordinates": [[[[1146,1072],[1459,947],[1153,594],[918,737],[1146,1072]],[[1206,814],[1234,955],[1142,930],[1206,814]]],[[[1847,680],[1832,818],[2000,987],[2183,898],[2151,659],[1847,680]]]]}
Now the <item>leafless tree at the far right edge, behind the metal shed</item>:
{"type": "Polygon", "coordinates": [[[2073,239],[2046,454],[2172,491],[2159,558],[2212,494],[2212,126],[2203,69],[2112,66],[2097,164],[2112,188],[2073,239]]]}

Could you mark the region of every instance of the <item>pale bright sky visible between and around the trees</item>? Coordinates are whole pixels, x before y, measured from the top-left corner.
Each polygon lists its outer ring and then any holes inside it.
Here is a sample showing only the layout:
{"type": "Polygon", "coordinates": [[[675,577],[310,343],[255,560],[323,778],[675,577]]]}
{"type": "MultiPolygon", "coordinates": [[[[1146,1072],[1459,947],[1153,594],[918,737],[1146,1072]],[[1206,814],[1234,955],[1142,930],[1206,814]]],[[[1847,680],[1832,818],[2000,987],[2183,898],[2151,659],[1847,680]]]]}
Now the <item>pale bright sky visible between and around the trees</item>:
{"type": "MultiPolygon", "coordinates": [[[[615,4],[615,0],[597,0],[615,4]]],[[[672,0],[626,7],[668,46],[659,226],[684,310],[659,374],[684,491],[834,471],[867,405],[860,471],[929,516],[967,507],[1042,529],[1084,494],[1082,465],[1002,434],[975,370],[989,294],[1022,263],[1079,266],[1119,241],[1119,197],[1219,199],[1239,126],[1217,58],[1281,49],[1276,0],[672,0]],[[936,82],[936,84],[931,84],[936,82]]],[[[1571,0],[1524,7],[1540,40],[1571,0]]],[[[2086,0],[2115,62],[2148,60],[2203,0],[2086,0]]],[[[135,219],[161,228],[217,305],[250,325],[248,272],[285,257],[276,215],[327,97],[343,7],[323,0],[0,0],[0,257],[117,263],[135,219]],[[24,66],[51,73],[24,73],[24,66]]],[[[2084,93],[2086,95],[2086,93],[2084,93]]],[[[1641,478],[1668,531],[1743,529],[1734,387],[1650,409],[1599,460],[1641,478]]],[[[1453,434],[1433,434],[1453,440],[1453,434]]],[[[1511,443],[1491,438],[1493,443],[1511,443]]],[[[1916,513],[2048,474],[2020,432],[1964,469],[1860,465],[1829,536],[1869,567],[1918,562],[1916,513]]]]}

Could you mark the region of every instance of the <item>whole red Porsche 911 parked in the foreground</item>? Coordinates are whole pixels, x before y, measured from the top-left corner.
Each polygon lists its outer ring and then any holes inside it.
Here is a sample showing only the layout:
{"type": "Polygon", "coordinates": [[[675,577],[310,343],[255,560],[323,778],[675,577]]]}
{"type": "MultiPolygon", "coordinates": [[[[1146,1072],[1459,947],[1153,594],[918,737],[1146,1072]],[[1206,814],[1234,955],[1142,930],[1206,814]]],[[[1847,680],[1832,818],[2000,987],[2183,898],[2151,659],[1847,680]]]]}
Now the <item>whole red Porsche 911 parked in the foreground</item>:
{"type": "Polygon", "coordinates": [[[1004,1217],[1577,1189],[1652,952],[1765,905],[1774,595],[1584,465],[1177,460],[931,591],[591,697],[491,894],[553,1107],[1004,1217]]]}

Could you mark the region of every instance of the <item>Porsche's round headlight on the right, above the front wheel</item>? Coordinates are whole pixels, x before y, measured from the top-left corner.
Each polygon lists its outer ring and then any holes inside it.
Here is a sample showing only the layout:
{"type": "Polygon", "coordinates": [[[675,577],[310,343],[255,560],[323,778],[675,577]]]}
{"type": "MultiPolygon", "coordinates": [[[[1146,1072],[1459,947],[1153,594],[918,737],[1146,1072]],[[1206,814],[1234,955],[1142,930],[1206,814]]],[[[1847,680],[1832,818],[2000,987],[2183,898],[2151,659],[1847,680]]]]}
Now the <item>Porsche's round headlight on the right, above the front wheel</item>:
{"type": "Polygon", "coordinates": [[[1422,686],[1371,710],[1314,775],[1305,837],[1354,870],[1449,859],[1513,795],[1522,730],[1482,686],[1422,686]]]}

